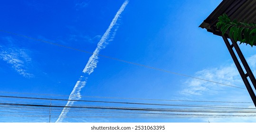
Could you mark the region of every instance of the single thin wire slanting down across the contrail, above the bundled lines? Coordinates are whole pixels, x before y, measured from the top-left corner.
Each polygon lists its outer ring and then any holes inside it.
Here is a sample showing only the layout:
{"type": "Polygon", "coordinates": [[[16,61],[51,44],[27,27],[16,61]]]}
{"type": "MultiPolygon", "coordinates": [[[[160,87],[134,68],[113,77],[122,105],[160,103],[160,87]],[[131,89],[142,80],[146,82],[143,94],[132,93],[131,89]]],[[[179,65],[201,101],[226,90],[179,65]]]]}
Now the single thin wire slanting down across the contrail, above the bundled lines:
{"type": "Polygon", "coordinates": [[[80,51],[80,52],[85,52],[85,53],[88,53],[88,54],[94,54],[96,56],[100,56],[100,57],[104,57],[104,58],[109,58],[109,59],[117,60],[117,61],[120,61],[120,62],[132,64],[132,65],[136,65],[136,66],[142,66],[142,67],[146,67],[146,68],[150,68],[150,69],[154,69],[154,70],[158,70],[158,71],[162,71],[162,72],[166,72],[166,73],[177,74],[177,75],[186,76],[186,77],[190,77],[190,78],[194,78],[194,79],[198,79],[198,80],[202,80],[202,81],[213,82],[213,83],[217,83],[217,84],[221,84],[221,85],[226,85],[226,86],[230,86],[230,87],[234,87],[234,88],[239,88],[239,89],[247,90],[245,88],[241,88],[241,87],[237,87],[237,86],[233,86],[233,85],[229,85],[229,84],[225,84],[225,83],[221,83],[221,82],[215,82],[215,81],[211,81],[211,80],[202,79],[202,78],[199,78],[199,77],[194,77],[194,76],[190,76],[190,75],[186,75],[186,74],[180,74],[180,73],[171,72],[171,71],[168,71],[168,70],[163,70],[163,69],[152,67],[152,66],[146,66],[146,65],[142,65],[142,64],[139,64],[139,63],[134,63],[134,62],[118,59],[118,58],[112,58],[112,57],[108,57],[108,56],[104,56],[104,55],[100,55],[100,54],[95,54],[93,52],[89,52],[89,51],[85,51],[85,50],[82,50],[82,49],[76,49],[76,48],[68,47],[68,46],[65,46],[65,45],[61,45],[61,44],[57,44],[57,43],[54,43],[54,42],[50,42],[50,41],[45,41],[45,40],[29,37],[29,36],[26,36],[26,35],[21,35],[21,34],[18,34],[18,33],[12,33],[12,32],[5,31],[5,30],[0,30],[0,32],[13,34],[13,35],[17,35],[17,36],[20,36],[20,37],[23,37],[23,38],[32,39],[32,40],[35,40],[35,41],[41,41],[41,42],[44,42],[44,43],[56,45],[56,46],[67,48],[67,49],[73,49],[73,50],[80,51]]]}

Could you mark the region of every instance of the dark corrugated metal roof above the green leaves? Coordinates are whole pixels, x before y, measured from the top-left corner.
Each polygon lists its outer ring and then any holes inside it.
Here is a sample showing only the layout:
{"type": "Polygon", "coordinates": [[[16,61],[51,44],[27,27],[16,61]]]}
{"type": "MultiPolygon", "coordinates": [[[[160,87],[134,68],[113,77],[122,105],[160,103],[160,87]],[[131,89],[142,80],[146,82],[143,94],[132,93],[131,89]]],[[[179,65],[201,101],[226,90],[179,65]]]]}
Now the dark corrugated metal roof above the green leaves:
{"type": "Polygon", "coordinates": [[[256,23],[256,0],[223,0],[199,27],[221,36],[216,24],[218,16],[224,13],[231,20],[237,19],[238,22],[243,22],[246,19],[247,23],[256,23]]]}

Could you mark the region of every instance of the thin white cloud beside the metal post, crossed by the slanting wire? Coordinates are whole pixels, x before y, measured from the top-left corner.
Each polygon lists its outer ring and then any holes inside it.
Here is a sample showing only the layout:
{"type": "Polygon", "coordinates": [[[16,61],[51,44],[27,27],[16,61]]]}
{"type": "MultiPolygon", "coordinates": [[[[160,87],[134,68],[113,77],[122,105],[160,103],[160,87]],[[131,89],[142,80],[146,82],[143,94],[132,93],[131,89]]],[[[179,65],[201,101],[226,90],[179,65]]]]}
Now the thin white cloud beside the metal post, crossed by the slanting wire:
{"type": "MultiPolygon", "coordinates": [[[[256,74],[256,55],[247,58],[249,66],[251,66],[252,71],[256,74]]],[[[235,85],[243,87],[243,81],[237,71],[234,64],[229,64],[226,66],[219,66],[215,68],[204,69],[196,73],[196,76],[206,80],[213,80],[215,82],[225,83],[228,85],[235,85]]],[[[196,79],[188,79],[185,81],[185,86],[182,91],[183,95],[213,95],[217,94],[218,91],[225,91],[226,86],[215,84],[212,82],[206,82],[196,79]]]]}

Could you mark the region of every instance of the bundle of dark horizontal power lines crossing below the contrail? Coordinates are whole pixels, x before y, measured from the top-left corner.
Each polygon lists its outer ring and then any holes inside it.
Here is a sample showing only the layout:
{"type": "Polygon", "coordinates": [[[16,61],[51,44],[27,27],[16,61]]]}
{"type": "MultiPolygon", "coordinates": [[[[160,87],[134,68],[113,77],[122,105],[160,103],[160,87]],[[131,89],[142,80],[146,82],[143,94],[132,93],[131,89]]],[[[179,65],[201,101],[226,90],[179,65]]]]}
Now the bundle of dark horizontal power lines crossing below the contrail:
{"type": "MultiPolygon", "coordinates": [[[[93,97],[92,99],[92,97],[85,96],[81,100],[72,100],[76,101],[73,106],[66,106],[66,102],[71,100],[59,98],[60,95],[51,95],[51,98],[39,98],[39,95],[43,96],[44,94],[13,96],[12,93],[10,96],[9,92],[1,91],[0,93],[2,93],[0,95],[0,118],[13,117],[17,120],[24,117],[42,118],[47,122],[49,118],[57,118],[64,107],[68,108],[69,112],[63,117],[72,119],[189,119],[256,116],[256,108],[250,107],[251,102],[144,100],[114,97],[93,97]],[[31,95],[37,95],[37,97],[31,95]]],[[[63,97],[67,98],[67,96],[63,97]]]]}

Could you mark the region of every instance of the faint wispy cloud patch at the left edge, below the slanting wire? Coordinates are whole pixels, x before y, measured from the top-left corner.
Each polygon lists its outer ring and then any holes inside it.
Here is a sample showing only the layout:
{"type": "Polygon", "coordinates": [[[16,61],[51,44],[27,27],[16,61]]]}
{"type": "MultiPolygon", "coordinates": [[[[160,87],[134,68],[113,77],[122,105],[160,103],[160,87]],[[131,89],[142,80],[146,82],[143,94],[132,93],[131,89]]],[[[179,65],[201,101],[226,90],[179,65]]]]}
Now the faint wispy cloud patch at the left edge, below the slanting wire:
{"type": "Polygon", "coordinates": [[[33,77],[34,75],[27,71],[28,65],[31,64],[29,50],[15,47],[14,40],[10,37],[5,40],[8,44],[0,46],[0,59],[9,64],[18,74],[28,78],[33,77]]]}

